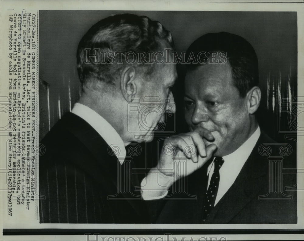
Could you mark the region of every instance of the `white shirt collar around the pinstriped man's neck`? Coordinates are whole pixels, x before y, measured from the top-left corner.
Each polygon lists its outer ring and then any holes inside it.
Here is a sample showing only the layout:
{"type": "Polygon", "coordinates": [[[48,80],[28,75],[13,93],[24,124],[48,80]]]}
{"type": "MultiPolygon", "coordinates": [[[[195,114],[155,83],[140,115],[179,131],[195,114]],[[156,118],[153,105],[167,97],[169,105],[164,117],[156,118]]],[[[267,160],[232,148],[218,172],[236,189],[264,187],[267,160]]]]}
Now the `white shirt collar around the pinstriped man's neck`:
{"type": "Polygon", "coordinates": [[[126,158],[125,144],[112,125],[97,112],[80,103],[76,103],[71,112],[88,122],[112,148],[120,164],[123,164],[126,158]]]}

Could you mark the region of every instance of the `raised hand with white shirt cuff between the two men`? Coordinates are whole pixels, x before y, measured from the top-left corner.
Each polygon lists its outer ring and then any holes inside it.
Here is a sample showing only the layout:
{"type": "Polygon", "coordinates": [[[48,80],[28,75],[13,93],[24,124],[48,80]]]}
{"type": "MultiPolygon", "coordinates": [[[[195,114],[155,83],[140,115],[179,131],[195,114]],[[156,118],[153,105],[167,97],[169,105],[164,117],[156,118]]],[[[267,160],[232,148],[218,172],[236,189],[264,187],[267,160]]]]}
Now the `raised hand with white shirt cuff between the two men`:
{"type": "Polygon", "coordinates": [[[201,168],[212,157],[217,146],[206,146],[203,139],[214,141],[210,131],[198,127],[164,141],[158,165],[148,173],[146,184],[142,184],[144,199],[163,197],[175,181],[201,168]]]}

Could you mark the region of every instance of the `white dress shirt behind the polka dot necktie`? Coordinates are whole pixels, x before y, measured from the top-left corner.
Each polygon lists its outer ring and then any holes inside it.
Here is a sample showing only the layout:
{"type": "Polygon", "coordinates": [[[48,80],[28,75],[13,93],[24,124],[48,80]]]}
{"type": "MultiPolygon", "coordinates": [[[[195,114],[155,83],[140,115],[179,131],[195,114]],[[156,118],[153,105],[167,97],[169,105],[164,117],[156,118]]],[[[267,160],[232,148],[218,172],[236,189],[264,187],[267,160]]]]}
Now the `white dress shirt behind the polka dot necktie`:
{"type": "MultiPolygon", "coordinates": [[[[245,141],[236,151],[229,155],[223,156],[224,163],[219,169],[219,189],[216,195],[216,205],[219,200],[225,195],[228,189],[232,186],[233,182],[239,175],[245,162],[247,161],[251,151],[253,150],[257,140],[261,134],[260,127],[245,141]]],[[[210,163],[207,169],[208,187],[210,184],[211,176],[214,171],[214,161],[210,163]]]]}

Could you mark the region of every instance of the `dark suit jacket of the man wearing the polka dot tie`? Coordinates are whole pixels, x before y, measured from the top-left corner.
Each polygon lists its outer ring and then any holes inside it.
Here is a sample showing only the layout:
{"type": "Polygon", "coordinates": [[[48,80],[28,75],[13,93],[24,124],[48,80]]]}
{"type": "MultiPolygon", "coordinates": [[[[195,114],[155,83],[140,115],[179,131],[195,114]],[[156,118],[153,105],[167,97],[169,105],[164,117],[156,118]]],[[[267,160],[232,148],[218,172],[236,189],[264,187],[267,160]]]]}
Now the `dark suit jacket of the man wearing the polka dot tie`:
{"type": "MultiPolygon", "coordinates": [[[[280,159],[280,145],[275,144],[275,141],[262,132],[237,179],[211,211],[205,223],[297,223],[296,191],[285,190],[287,186],[296,185],[296,175],[282,174],[283,195],[278,191],[275,193],[275,190],[269,186],[272,183],[271,178],[273,178],[272,180],[278,179],[274,175],[268,174],[268,164],[270,170],[273,166],[268,161],[268,156],[265,156],[268,151],[267,147],[259,151],[262,144],[271,147],[270,155],[277,156],[274,160],[280,159]],[[290,195],[292,199],[288,199],[284,195],[290,195]]],[[[285,157],[284,162],[295,158],[294,154],[285,157]]],[[[279,162],[276,163],[279,164],[279,162]]],[[[188,178],[181,180],[179,184],[175,184],[181,186],[182,183],[186,183],[187,193],[175,192],[172,196],[169,195],[169,200],[166,201],[160,216],[157,211],[154,213],[155,218],[158,216],[158,223],[203,223],[202,206],[208,182],[206,173],[206,167],[203,167],[188,178]],[[196,196],[196,199],[193,199],[191,195],[196,196]]]]}

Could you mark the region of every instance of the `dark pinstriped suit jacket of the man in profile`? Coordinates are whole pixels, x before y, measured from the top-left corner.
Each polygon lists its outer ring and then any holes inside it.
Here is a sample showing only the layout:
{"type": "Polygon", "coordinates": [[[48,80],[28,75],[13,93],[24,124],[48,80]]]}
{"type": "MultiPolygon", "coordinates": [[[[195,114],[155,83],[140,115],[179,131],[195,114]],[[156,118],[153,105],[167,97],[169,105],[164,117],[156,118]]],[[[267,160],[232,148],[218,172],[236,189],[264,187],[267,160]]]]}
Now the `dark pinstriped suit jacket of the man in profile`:
{"type": "MultiPolygon", "coordinates": [[[[120,165],[85,120],[65,114],[41,143],[46,152],[39,158],[39,189],[45,198],[40,200],[40,222],[146,222],[140,193],[128,194],[119,184],[126,175],[118,170],[129,170],[128,162],[120,165]]],[[[132,180],[132,188],[138,186],[134,175],[132,180]]]]}

